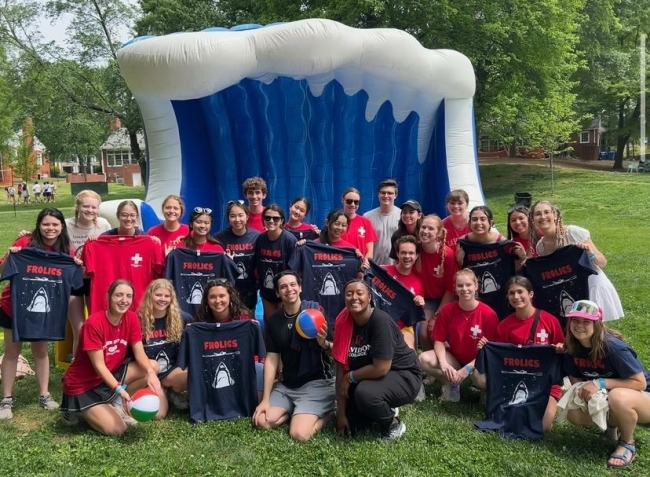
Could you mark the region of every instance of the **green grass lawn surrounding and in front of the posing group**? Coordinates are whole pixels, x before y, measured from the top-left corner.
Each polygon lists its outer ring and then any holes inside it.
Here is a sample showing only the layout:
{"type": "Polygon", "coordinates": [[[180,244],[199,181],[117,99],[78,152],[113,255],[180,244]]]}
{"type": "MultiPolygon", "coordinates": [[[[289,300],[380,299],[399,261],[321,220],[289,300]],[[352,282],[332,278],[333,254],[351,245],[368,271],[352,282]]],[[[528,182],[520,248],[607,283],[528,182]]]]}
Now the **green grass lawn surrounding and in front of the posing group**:
{"type": "MultiPolygon", "coordinates": [[[[539,165],[481,166],[483,189],[505,232],[506,210],[514,192],[533,200],[550,199],[560,206],[565,224],[589,229],[607,256],[606,268],[623,301],[626,317],[614,322],[640,358],[650,366],[648,309],[650,258],[647,211],[650,174],[556,169],[555,195],[550,170],[539,165]],[[643,231],[646,231],[645,233],[643,231]]],[[[65,216],[72,211],[69,188],[58,188],[55,204],[65,216]]],[[[141,197],[143,190],[111,186],[109,199],[141,197]]],[[[21,229],[34,227],[38,205],[0,205],[0,249],[21,229]]],[[[28,348],[25,355],[29,356],[28,348]]],[[[52,353],[53,361],[53,353],[52,353]]],[[[61,396],[61,372],[54,370],[51,392],[61,396]]],[[[439,403],[439,386],[428,399],[401,409],[404,437],[385,445],[367,435],[355,440],[336,437],[334,427],[306,444],[289,440],[286,429],[258,432],[248,420],[192,426],[173,413],[164,421],[130,429],[122,438],[97,435],[85,426],[64,428],[58,413],[38,409],[34,378],[15,386],[14,419],[0,422],[2,476],[595,476],[606,468],[613,450],[596,430],[556,426],[542,441],[501,439],[473,429],[481,409],[467,395],[459,404],[439,403]]],[[[650,432],[636,434],[639,455],[626,475],[650,475],[650,432]]]]}

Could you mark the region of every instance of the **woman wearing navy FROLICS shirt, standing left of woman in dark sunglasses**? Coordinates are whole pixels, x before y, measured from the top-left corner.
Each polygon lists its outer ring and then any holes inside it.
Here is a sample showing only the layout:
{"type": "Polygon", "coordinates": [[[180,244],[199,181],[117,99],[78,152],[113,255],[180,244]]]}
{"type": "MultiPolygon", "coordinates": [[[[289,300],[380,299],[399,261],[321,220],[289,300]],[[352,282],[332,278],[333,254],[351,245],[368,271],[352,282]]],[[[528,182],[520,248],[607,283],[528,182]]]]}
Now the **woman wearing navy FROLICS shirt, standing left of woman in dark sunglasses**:
{"type": "Polygon", "coordinates": [[[228,223],[226,227],[215,234],[228,255],[234,260],[239,274],[237,275],[237,291],[242,301],[250,310],[257,306],[257,290],[255,288],[255,275],[253,273],[253,259],[255,257],[255,241],[260,234],[257,230],[248,228],[248,207],[244,201],[228,202],[226,208],[228,223]]]}

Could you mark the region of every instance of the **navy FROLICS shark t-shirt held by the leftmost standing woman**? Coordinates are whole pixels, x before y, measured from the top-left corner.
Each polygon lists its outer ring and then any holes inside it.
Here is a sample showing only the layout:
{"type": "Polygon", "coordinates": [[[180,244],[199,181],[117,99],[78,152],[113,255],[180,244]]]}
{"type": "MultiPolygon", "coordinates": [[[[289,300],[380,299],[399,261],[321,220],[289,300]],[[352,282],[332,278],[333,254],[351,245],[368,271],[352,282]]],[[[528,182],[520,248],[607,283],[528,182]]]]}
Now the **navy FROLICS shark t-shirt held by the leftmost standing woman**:
{"type": "Polygon", "coordinates": [[[65,339],[70,292],[83,286],[70,255],[23,248],[7,255],[1,279],[11,280],[14,341],[65,339]]]}

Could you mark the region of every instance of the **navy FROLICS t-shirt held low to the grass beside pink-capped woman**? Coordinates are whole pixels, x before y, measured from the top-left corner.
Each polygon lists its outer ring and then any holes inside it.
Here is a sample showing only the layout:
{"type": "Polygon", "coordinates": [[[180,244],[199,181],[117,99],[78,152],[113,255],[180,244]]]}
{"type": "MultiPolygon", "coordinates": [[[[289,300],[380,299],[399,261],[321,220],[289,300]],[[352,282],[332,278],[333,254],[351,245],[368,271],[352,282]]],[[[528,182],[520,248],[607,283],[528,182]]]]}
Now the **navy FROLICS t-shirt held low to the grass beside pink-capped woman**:
{"type": "Polygon", "coordinates": [[[487,380],[485,420],[475,426],[513,439],[542,438],[551,386],[562,380],[562,356],[555,347],[488,343],[475,365],[487,380]]]}

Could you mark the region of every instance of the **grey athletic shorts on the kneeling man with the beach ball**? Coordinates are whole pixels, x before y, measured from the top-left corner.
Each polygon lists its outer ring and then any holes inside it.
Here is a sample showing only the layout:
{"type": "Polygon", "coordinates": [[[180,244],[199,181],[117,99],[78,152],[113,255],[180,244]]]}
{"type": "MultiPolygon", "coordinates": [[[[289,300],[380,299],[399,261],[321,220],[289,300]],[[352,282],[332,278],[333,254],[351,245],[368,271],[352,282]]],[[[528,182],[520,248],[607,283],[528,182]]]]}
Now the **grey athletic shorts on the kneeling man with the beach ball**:
{"type": "Polygon", "coordinates": [[[291,416],[313,414],[324,417],[334,410],[334,378],[309,381],[291,389],[277,383],[271,391],[271,406],[285,409],[291,416]]]}

